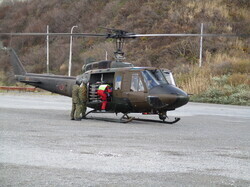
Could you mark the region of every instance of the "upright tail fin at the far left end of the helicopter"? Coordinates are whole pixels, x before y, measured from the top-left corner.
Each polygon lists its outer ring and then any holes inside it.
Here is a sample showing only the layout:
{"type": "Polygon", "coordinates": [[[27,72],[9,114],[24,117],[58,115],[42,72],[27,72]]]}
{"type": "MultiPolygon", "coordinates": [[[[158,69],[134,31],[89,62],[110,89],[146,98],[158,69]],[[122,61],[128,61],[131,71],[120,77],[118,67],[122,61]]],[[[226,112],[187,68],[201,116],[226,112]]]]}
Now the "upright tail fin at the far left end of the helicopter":
{"type": "Polygon", "coordinates": [[[16,55],[15,50],[10,48],[9,51],[10,51],[10,62],[11,65],[13,66],[15,75],[25,75],[26,71],[21,61],[19,60],[18,56],[16,55]]]}

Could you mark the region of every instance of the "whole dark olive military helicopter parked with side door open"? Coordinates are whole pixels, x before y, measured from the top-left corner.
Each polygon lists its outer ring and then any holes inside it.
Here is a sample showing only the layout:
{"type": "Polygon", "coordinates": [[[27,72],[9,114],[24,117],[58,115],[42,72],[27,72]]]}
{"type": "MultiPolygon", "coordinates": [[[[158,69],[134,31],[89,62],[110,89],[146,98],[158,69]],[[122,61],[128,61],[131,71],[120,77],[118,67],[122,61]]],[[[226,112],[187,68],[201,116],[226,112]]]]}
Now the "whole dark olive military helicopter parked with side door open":
{"type": "MultiPolygon", "coordinates": [[[[122,113],[123,116],[115,121],[127,123],[133,120],[153,121],[167,124],[174,124],[180,120],[166,120],[167,112],[175,110],[189,101],[189,95],[178,88],[172,73],[166,69],[155,67],[135,67],[132,63],[123,62],[124,52],[122,51],[126,39],[137,37],[185,37],[201,36],[201,34],[135,34],[124,30],[107,29],[105,34],[91,33],[0,33],[0,35],[50,35],[50,36],[81,36],[81,37],[104,37],[116,41],[115,60],[98,61],[85,64],[83,73],[77,77],[68,77],[51,74],[34,74],[26,72],[14,49],[10,48],[11,64],[14,68],[17,81],[41,88],[52,93],[72,97],[72,87],[76,80],[87,79],[87,107],[92,110],[86,113],[101,113],[100,97],[97,89],[101,84],[109,84],[113,91],[109,97],[105,113],[122,113]],[[141,119],[130,117],[130,113],[142,113],[158,115],[159,120],[141,119]]],[[[220,34],[202,34],[202,36],[220,36],[220,34]]],[[[235,34],[223,35],[235,37],[235,34]]],[[[102,118],[107,121],[111,119],[102,118]]]]}

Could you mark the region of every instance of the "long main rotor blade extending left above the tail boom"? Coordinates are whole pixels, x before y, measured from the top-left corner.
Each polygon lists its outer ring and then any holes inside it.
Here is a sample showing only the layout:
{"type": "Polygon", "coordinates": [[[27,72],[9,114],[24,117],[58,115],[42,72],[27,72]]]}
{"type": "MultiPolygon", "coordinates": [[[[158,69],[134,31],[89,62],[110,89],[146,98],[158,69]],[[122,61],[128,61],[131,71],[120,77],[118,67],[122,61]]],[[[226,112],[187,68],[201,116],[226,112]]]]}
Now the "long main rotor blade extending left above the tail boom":
{"type": "Polygon", "coordinates": [[[80,36],[80,37],[107,37],[107,34],[91,33],[0,33],[6,36],[80,36]]]}

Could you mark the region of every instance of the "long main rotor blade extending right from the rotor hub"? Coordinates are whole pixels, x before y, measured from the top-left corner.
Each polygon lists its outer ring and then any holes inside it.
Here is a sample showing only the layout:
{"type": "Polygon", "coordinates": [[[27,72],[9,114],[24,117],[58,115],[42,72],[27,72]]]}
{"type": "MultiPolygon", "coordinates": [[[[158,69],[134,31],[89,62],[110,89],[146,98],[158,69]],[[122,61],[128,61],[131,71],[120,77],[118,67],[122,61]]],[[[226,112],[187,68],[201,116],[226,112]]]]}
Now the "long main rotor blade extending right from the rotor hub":
{"type": "Polygon", "coordinates": [[[155,36],[168,36],[168,37],[249,37],[250,34],[131,34],[127,37],[155,37],[155,36]]]}

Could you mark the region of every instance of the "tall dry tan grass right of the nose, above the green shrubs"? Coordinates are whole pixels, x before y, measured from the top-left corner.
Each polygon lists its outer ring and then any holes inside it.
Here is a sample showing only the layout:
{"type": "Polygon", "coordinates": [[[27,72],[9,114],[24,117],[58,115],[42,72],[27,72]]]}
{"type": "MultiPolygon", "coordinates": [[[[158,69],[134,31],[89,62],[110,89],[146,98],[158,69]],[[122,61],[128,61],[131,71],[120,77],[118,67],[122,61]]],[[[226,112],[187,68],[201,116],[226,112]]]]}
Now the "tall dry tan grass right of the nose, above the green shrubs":
{"type": "Polygon", "coordinates": [[[196,64],[191,68],[186,67],[186,71],[180,68],[176,72],[177,84],[186,92],[199,95],[211,87],[221,89],[225,85],[250,85],[250,60],[247,55],[212,55],[206,52],[206,56],[205,65],[201,68],[196,64]]]}

